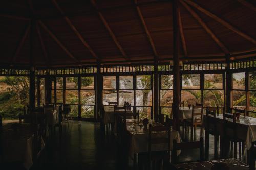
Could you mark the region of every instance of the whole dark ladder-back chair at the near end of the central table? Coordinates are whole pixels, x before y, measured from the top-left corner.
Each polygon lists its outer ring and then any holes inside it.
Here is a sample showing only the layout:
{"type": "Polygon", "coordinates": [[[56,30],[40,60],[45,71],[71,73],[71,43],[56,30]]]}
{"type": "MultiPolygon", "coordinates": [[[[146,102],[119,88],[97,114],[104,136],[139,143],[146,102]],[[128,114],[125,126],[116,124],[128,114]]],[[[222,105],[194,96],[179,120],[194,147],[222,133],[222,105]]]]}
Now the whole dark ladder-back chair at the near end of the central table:
{"type": "Polygon", "coordinates": [[[149,125],[148,131],[148,167],[153,169],[159,169],[156,167],[156,163],[161,165],[162,163],[169,163],[170,160],[170,128],[167,126],[152,126],[149,125]],[[154,136],[154,133],[162,133],[165,131],[167,135],[163,136],[154,136]],[[154,133],[153,133],[154,132],[154,133]],[[167,148],[163,151],[152,151],[153,145],[161,144],[167,145],[167,148]]]}

